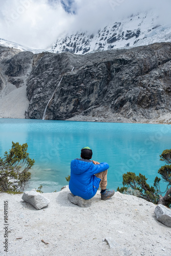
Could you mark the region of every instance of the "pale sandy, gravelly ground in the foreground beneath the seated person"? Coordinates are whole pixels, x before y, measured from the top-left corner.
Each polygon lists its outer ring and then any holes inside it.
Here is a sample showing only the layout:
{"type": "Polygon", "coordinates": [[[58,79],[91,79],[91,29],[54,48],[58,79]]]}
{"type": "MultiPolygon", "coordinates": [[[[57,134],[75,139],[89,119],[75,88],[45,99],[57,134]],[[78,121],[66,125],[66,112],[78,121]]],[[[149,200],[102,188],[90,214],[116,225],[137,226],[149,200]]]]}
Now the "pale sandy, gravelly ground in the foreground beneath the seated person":
{"type": "Polygon", "coordinates": [[[68,186],[44,193],[47,207],[36,210],[22,195],[0,193],[1,241],[4,241],[4,201],[8,201],[8,252],[1,255],[170,256],[171,228],[156,220],[156,205],[116,192],[107,201],[99,191],[91,206],[68,200],[68,186]]]}

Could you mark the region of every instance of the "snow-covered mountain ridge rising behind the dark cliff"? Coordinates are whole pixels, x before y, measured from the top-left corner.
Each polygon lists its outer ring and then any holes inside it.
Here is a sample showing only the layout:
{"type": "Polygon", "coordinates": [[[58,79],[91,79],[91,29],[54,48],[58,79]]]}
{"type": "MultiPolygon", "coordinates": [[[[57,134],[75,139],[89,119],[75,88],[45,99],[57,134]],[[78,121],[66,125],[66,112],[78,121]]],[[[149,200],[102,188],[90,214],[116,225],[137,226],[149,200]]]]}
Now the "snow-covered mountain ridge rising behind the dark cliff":
{"type": "Polygon", "coordinates": [[[77,32],[58,38],[52,51],[86,54],[154,42],[171,42],[171,27],[162,24],[153,11],[132,15],[110,24],[96,33],[77,32]]]}

